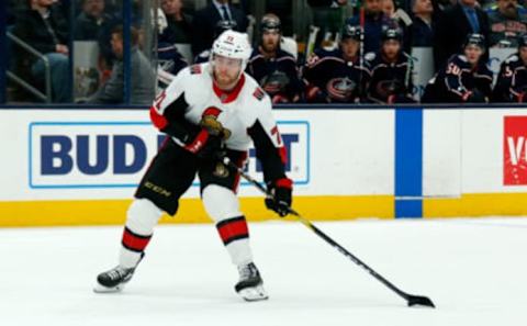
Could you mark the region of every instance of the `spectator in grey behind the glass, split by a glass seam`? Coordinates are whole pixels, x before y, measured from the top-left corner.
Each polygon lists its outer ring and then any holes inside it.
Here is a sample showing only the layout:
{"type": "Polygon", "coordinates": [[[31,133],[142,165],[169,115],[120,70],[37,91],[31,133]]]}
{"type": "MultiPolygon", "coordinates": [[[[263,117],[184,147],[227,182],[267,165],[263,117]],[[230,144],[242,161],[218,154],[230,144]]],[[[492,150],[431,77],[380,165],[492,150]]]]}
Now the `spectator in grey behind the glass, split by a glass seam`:
{"type": "MultiPolygon", "coordinates": [[[[117,60],[113,64],[110,78],[102,87],[88,99],[88,103],[122,103],[124,89],[124,64],[123,64],[123,26],[117,25],[112,31],[111,44],[117,60]]],[[[138,31],[131,27],[131,103],[149,105],[155,95],[156,77],[150,63],[139,50],[138,31]]]]}

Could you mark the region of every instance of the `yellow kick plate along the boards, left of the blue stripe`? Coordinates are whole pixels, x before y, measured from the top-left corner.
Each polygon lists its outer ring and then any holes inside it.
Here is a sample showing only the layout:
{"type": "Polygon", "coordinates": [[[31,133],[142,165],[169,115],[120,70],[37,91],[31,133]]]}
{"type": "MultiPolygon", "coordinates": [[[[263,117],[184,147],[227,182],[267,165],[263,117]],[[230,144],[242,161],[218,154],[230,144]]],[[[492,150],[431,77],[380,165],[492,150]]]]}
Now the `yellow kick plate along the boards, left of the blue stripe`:
{"type": "MultiPolygon", "coordinates": [[[[293,206],[312,221],[393,217],[393,195],[295,196],[293,206]]],[[[0,227],[122,225],[131,200],[0,202],[0,227]]],[[[276,220],[262,198],[240,199],[249,221],[276,220]]],[[[294,220],[288,217],[288,220],[294,220]]],[[[199,199],[183,199],[176,217],[161,223],[210,223],[199,199]]]]}

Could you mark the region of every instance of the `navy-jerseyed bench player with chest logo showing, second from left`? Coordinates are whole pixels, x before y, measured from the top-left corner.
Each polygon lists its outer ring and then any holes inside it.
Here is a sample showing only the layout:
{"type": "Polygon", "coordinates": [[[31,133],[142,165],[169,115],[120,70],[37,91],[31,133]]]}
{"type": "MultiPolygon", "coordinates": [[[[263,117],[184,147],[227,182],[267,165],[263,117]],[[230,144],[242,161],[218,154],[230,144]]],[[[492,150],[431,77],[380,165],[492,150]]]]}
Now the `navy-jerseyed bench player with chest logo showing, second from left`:
{"type": "Polygon", "coordinates": [[[361,33],[359,26],[345,24],[338,49],[315,50],[303,69],[307,102],[358,103],[365,98],[370,70],[360,58],[361,33]]]}

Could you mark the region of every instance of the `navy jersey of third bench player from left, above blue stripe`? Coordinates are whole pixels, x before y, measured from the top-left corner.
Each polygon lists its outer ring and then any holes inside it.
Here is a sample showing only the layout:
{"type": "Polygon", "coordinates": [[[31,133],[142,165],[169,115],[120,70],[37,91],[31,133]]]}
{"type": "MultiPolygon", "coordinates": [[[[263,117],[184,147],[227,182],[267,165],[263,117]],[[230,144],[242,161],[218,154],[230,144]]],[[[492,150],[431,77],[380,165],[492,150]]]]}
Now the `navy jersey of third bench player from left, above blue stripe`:
{"type": "Polygon", "coordinates": [[[371,80],[368,87],[368,100],[373,103],[414,102],[412,90],[412,59],[401,52],[397,59],[389,63],[381,54],[369,58],[371,80]]]}

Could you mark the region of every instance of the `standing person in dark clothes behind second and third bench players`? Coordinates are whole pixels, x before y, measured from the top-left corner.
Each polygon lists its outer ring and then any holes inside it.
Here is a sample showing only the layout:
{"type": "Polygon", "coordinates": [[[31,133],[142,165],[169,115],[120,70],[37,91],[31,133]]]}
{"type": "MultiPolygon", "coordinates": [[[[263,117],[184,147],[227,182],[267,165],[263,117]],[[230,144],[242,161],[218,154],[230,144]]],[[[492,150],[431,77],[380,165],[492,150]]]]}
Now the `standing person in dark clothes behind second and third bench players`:
{"type": "MultiPolygon", "coordinates": [[[[383,26],[390,21],[390,18],[385,16],[381,0],[365,0],[363,10],[365,13],[365,53],[375,53],[381,45],[381,35],[383,26]]],[[[347,24],[361,25],[359,14],[348,19],[347,24]]]]}

